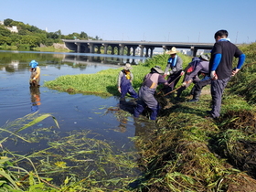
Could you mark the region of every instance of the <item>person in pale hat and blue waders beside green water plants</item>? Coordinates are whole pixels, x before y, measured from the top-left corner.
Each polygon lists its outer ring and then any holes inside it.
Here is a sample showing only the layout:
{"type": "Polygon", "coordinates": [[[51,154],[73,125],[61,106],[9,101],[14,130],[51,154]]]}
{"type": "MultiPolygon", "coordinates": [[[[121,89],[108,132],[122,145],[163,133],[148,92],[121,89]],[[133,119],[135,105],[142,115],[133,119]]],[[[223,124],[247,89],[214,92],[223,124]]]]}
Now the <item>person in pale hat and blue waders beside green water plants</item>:
{"type": "Polygon", "coordinates": [[[133,73],[130,71],[131,69],[131,64],[126,63],[123,70],[121,70],[119,73],[117,79],[117,89],[121,93],[121,98],[124,98],[127,93],[129,93],[131,97],[135,99],[138,98],[138,94],[136,91],[134,91],[132,86],[133,73]]]}

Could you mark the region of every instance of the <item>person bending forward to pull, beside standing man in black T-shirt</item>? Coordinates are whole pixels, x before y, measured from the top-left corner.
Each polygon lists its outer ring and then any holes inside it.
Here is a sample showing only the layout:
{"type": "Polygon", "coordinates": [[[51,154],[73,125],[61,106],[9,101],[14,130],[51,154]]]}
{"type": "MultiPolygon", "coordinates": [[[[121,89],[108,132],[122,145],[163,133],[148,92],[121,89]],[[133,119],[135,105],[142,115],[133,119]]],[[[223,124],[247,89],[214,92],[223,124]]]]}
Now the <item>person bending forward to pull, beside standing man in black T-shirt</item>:
{"type": "Polygon", "coordinates": [[[199,100],[201,90],[203,87],[210,83],[209,78],[205,77],[203,80],[198,78],[198,75],[206,76],[206,74],[208,74],[208,61],[208,54],[201,55],[199,58],[195,57],[192,59],[192,62],[190,62],[187,68],[184,69],[186,72],[185,77],[182,83],[182,87],[177,91],[176,99],[179,99],[182,91],[186,90],[187,87],[193,82],[195,85],[191,90],[191,94],[193,95],[193,100],[191,101],[199,100]]]}

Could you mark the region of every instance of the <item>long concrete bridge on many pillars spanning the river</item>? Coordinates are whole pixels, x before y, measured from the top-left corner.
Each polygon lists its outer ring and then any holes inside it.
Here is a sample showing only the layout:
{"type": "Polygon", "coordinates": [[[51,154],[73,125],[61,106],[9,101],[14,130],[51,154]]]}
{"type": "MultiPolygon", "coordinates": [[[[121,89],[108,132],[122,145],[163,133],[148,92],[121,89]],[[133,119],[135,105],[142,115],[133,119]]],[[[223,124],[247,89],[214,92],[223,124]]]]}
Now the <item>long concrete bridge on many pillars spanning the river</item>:
{"type": "Polygon", "coordinates": [[[127,56],[135,56],[135,51],[140,48],[139,56],[152,57],[155,48],[163,48],[164,51],[173,47],[188,48],[192,51],[193,56],[197,55],[198,49],[211,49],[214,43],[186,43],[186,42],[154,42],[154,41],[114,41],[114,40],[68,40],[62,39],[66,47],[77,53],[98,53],[101,54],[101,47],[104,49],[104,54],[108,54],[111,49],[111,54],[114,54],[114,49],[117,49],[117,55],[123,55],[124,48],[127,48],[127,56]],[[145,55],[144,55],[145,49],[145,55]]]}

